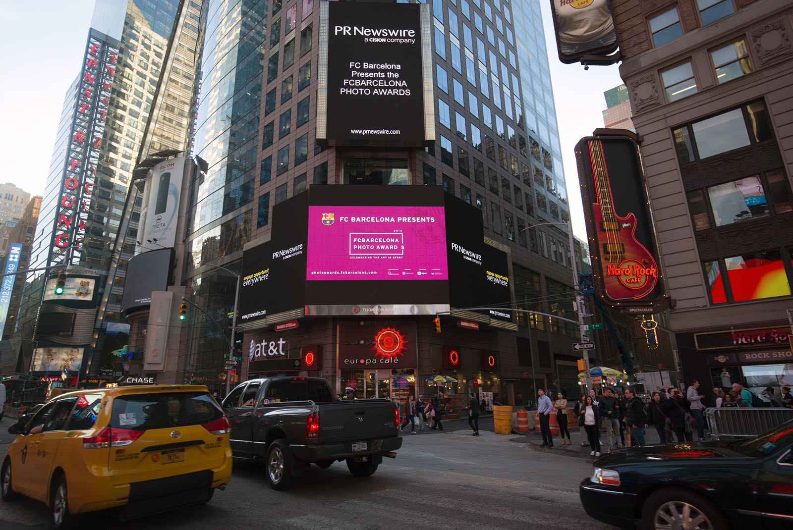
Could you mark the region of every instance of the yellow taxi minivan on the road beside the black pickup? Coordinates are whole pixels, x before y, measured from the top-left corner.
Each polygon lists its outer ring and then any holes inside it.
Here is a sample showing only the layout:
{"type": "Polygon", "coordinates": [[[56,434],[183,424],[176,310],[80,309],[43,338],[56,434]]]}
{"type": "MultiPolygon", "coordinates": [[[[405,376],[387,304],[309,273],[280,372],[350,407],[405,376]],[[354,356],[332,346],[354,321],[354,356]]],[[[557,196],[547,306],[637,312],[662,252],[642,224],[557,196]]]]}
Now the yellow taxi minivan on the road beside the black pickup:
{"type": "Polygon", "coordinates": [[[77,513],[121,508],[129,519],[208,502],[232,475],[231,426],[206,387],[156,385],[69,392],[9,429],[3,501],[48,505],[53,528],[77,513]]]}

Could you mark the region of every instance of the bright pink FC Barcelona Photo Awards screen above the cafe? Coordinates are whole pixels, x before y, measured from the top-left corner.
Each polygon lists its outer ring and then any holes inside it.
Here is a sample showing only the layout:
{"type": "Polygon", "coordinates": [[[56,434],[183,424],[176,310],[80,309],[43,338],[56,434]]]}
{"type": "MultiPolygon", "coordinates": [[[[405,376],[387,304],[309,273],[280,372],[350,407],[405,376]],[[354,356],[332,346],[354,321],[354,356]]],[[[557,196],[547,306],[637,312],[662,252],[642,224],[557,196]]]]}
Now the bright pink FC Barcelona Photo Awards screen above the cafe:
{"type": "Polygon", "coordinates": [[[448,280],[442,206],[309,206],[306,280],[448,280]]]}

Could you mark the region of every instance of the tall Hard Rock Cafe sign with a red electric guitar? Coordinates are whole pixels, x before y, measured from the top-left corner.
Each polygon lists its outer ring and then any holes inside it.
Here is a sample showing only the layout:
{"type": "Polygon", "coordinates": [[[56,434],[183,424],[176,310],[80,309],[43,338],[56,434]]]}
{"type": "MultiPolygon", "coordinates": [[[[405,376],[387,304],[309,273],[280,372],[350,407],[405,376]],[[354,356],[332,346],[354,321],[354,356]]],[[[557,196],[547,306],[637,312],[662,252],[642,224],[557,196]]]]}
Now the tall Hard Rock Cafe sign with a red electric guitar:
{"type": "Polygon", "coordinates": [[[611,307],[652,313],[664,289],[638,147],[599,135],[581,139],[576,158],[596,292],[611,307]]]}

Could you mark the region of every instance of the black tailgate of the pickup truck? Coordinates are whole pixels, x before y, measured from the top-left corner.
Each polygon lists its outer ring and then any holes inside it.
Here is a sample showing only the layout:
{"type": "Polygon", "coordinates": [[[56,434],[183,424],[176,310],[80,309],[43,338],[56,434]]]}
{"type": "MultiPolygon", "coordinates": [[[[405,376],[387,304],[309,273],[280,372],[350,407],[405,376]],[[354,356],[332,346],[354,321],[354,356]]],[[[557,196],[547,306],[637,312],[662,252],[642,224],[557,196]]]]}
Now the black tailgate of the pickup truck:
{"type": "Polygon", "coordinates": [[[320,404],[320,443],[397,436],[396,407],[385,399],[320,404]]]}

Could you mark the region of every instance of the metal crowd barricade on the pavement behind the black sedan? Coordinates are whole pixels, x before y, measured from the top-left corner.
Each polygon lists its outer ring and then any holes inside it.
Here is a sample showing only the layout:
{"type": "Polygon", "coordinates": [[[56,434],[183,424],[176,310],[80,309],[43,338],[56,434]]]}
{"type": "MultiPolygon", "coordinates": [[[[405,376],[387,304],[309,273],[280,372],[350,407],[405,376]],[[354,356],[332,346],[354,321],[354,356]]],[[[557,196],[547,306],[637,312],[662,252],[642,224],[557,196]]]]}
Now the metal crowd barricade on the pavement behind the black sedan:
{"type": "Polygon", "coordinates": [[[785,408],[710,408],[705,418],[714,440],[753,438],[793,419],[793,409],[785,408]]]}

